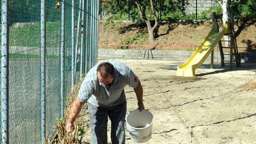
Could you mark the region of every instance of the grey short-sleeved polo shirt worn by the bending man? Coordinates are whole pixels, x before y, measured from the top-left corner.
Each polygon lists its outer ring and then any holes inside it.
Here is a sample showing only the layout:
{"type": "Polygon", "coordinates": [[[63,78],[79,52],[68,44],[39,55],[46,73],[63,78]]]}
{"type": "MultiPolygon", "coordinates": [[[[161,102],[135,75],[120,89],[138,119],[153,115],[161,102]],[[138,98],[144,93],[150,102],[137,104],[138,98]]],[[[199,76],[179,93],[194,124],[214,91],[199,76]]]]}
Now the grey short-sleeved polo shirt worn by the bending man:
{"type": "Polygon", "coordinates": [[[133,88],[138,86],[139,79],[134,72],[125,64],[110,61],[114,66],[114,79],[111,86],[105,86],[97,77],[95,65],[86,75],[78,92],[78,99],[81,102],[88,102],[95,106],[109,107],[125,102],[126,85],[133,88]]]}

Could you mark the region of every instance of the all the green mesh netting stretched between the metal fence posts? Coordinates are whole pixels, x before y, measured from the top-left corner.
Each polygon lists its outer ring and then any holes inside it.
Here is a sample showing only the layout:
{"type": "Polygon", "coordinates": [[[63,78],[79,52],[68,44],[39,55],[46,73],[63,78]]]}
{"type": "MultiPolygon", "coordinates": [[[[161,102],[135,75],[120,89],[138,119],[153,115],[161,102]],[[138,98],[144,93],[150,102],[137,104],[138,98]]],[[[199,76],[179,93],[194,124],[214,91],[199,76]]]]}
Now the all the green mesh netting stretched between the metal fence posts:
{"type": "MultiPolygon", "coordinates": [[[[46,137],[55,134],[55,120],[61,117],[60,98],[60,47],[61,47],[61,1],[46,1],[46,137]]],[[[91,1],[86,6],[91,8],[91,1]]],[[[94,3],[93,7],[96,6],[94,3]]],[[[10,143],[40,143],[41,96],[40,96],[40,0],[10,0],[9,31],[9,136],[10,143]]],[[[71,9],[72,1],[65,0],[65,96],[71,88],[71,9]]],[[[81,6],[75,3],[75,26],[81,6]]],[[[92,35],[91,11],[86,9],[86,51],[83,67],[89,70],[96,64],[97,34],[92,35]],[[87,20],[88,18],[88,20],[87,20]],[[88,34],[88,35],[87,35],[88,34]],[[92,37],[93,36],[93,37],[92,37]],[[92,41],[94,38],[94,41],[92,41]],[[95,43],[96,42],[96,43],[95,43]],[[91,49],[94,45],[94,49],[91,49]],[[85,66],[86,65],[86,66],[85,66]]],[[[82,16],[82,15],[81,15],[82,16]]],[[[94,13],[93,17],[97,17],[94,13]]],[[[82,17],[81,17],[82,19],[82,17]]],[[[94,21],[96,22],[96,21],[94,21]]],[[[94,24],[97,26],[96,24],[94,24]]],[[[80,79],[81,24],[75,29],[75,45],[78,47],[76,82],[80,79]],[[77,31],[79,31],[77,37],[77,31]],[[77,39],[78,38],[78,43],[77,39]]],[[[94,33],[97,32],[97,28],[94,33]]],[[[66,100],[66,99],[65,99],[66,100]]]]}

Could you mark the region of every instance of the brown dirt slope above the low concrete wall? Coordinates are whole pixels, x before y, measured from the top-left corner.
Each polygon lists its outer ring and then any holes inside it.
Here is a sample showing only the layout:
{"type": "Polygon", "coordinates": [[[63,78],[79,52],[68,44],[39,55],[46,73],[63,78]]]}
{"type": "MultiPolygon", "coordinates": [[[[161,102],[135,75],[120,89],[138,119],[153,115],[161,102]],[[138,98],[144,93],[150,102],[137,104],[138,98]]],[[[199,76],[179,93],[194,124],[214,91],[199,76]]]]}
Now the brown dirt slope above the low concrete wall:
{"type": "MultiPolygon", "coordinates": [[[[219,29],[222,30],[222,21],[218,20],[219,29]]],[[[235,21],[235,35],[239,52],[256,52],[256,19],[235,21]]],[[[156,45],[182,45],[198,46],[211,30],[211,20],[193,23],[192,21],[163,21],[159,22],[159,28],[155,39],[156,45]]],[[[148,40],[147,26],[145,23],[132,22],[99,22],[99,44],[109,45],[151,45],[148,40]]],[[[224,43],[223,43],[224,45],[224,43]]],[[[106,49],[118,49],[119,47],[102,47],[106,49]]],[[[128,47],[127,49],[150,49],[149,47],[128,47]]],[[[156,50],[192,50],[190,48],[156,47],[156,50]]]]}

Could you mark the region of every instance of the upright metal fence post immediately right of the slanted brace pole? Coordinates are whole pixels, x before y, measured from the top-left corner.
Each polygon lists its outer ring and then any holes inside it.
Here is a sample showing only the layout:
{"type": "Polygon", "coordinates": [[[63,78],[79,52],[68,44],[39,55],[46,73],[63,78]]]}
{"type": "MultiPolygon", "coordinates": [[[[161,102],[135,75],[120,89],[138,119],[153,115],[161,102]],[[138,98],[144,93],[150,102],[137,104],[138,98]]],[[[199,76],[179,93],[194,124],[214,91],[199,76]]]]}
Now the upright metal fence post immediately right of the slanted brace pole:
{"type": "Polygon", "coordinates": [[[81,27],[81,31],[83,31],[83,33],[81,33],[81,51],[80,51],[80,80],[82,78],[82,73],[83,73],[83,51],[84,51],[84,35],[85,35],[85,0],[82,0],[82,27],[81,27]]]}

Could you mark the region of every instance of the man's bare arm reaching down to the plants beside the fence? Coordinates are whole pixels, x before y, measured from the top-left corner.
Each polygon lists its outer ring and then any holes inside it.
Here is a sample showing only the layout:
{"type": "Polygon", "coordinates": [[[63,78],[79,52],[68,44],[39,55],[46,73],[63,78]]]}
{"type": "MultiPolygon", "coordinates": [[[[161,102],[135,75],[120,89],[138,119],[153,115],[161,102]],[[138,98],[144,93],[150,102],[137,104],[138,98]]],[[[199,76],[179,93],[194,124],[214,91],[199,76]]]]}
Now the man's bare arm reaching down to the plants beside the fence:
{"type": "Polygon", "coordinates": [[[69,111],[67,125],[66,125],[66,131],[68,133],[74,130],[74,121],[76,120],[77,116],[81,112],[83,104],[85,104],[85,102],[81,102],[78,98],[72,104],[69,111]]]}

